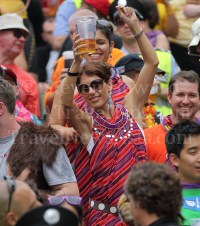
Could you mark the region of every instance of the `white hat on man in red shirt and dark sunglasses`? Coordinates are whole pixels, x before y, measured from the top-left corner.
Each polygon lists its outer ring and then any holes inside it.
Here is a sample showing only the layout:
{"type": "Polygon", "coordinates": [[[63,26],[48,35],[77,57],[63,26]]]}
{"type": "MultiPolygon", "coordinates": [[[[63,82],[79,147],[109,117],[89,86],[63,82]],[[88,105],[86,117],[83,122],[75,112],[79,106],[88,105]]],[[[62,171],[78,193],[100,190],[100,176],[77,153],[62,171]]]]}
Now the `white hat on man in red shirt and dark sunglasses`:
{"type": "Polygon", "coordinates": [[[22,18],[16,13],[7,13],[0,16],[0,30],[13,28],[24,30],[27,33],[27,36],[29,36],[30,34],[29,30],[24,26],[22,18]]]}

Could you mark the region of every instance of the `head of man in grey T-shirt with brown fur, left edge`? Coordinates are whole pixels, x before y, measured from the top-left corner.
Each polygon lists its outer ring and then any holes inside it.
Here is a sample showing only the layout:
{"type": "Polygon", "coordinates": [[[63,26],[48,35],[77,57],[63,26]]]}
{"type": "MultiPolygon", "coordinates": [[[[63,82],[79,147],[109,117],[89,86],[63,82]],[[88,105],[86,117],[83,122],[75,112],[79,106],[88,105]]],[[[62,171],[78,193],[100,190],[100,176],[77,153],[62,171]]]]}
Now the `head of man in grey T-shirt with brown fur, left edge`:
{"type": "Polygon", "coordinates": [[[0,117],[14,114],[16,95],[12,86],[0,78],[0,117]]]}

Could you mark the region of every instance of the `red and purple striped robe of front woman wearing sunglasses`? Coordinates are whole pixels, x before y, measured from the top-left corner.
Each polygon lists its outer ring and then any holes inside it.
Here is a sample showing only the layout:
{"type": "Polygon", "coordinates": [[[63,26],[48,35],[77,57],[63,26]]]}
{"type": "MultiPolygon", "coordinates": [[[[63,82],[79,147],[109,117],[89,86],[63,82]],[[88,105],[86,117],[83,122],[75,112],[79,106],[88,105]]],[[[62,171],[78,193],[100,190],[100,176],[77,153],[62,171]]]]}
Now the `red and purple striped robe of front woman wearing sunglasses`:
{"type": "MultiPolygon", "coordinates": [[[[92,174],[90,198],[116,206],[124,193],[124,183],[133,166],[147,161],[144,137],[136,121],[122,105],[115,105],[112,119],[95,112],[90,158],[92,174]],[[120,128],[119,128],[120,127],[120,128]]],[[[125,225],[113,214],[89,208],[86,225],[125,225]]]]}

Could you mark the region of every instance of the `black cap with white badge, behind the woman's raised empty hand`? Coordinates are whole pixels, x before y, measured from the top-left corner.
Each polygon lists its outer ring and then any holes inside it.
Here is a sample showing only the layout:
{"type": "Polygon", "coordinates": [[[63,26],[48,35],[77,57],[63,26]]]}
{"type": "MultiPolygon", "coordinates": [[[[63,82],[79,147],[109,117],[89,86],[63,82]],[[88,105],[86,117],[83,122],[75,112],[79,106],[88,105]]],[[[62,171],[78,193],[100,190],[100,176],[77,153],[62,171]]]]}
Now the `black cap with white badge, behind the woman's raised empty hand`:
{"type": "Polygon", "coordinates": [[[116,24],[116,20],[118,17],[118,10],[116,9],[116,6],[128,6],[134,9],[136,16],[140,20],[146,20],[147,18],[147,11],[143,4],[138,0],[115,0],[111,5],[109,9],[109,16],[111,21],[116,24]]]}

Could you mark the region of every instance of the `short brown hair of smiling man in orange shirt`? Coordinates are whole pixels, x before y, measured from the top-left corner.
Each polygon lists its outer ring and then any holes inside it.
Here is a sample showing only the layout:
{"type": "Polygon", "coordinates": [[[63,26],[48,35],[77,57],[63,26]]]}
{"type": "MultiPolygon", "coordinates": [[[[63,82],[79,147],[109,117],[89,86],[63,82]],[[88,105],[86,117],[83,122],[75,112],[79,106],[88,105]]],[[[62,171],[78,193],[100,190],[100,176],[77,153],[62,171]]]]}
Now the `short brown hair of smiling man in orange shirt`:
{"type": "Polygon", "coordinates": [[[170,95],[173,94],[174,92],[174,84],[177,81],[188,81],[190,83],[197,83],[198,84],[198,93],[200,95],[200,79],[199,79],[199,75],[194,72],[194,71],[180,71],[177,74],[175,74],[174,76],[172,76],[172,78],[170,79],[169,82],[169,88],[168,88],[168,92],[170,95]]]}

